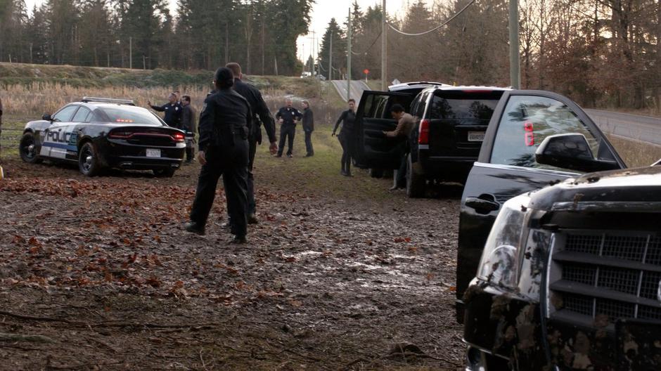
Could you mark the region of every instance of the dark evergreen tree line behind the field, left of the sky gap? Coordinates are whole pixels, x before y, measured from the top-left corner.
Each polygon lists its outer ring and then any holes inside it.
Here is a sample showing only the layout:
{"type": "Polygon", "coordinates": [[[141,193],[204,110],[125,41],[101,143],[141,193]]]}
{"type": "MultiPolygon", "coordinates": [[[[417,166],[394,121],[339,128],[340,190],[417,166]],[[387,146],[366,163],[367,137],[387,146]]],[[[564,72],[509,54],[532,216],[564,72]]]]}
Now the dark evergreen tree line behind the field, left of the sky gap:
{"type": "Polygon", "coordinates": [[[0,61],[296,74],[313,0],[0,0],[0,61]],[[174,13],[174,14],[173,14],[174,13]]]}

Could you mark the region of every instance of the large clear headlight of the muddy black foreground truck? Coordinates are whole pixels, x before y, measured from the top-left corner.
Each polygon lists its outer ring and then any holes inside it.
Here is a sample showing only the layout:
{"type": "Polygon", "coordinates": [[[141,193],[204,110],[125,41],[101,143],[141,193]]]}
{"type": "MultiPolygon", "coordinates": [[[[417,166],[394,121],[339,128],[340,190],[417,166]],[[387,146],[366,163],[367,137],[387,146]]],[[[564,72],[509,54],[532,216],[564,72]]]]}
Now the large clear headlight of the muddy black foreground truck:
{"type": "Polygon", "coordinates": [[[517,287],[518,251],[527,230],[526,216],[530,196],[513,197],[505,204],[494,221],[487,243],[484,244],[477,277],[492,285],[514,289],[517,287]]]}

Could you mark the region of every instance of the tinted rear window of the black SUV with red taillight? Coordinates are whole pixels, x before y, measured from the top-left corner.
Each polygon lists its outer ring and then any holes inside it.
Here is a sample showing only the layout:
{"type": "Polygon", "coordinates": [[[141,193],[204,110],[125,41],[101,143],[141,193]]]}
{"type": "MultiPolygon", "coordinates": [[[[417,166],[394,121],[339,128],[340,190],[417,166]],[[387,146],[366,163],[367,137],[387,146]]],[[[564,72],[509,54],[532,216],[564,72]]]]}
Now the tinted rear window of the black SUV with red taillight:
{"type": "Polygon", "coordinates": [[[446,93],[439,91],[432,98],[430,119],[480,119],[489,120],[500,100],[497,93],[446,93]]]}

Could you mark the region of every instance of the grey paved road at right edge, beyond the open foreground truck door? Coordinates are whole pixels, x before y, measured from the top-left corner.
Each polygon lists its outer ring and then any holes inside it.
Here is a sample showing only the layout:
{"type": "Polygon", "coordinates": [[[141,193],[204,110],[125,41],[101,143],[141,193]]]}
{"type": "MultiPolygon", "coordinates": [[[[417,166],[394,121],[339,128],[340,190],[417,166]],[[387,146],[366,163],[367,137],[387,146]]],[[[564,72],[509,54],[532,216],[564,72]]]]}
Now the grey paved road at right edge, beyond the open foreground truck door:
{"type": "Polygon", "coordinates": [[[661,119],[601,110],[585,112],[606,133],[661,145],[661,119]]]}

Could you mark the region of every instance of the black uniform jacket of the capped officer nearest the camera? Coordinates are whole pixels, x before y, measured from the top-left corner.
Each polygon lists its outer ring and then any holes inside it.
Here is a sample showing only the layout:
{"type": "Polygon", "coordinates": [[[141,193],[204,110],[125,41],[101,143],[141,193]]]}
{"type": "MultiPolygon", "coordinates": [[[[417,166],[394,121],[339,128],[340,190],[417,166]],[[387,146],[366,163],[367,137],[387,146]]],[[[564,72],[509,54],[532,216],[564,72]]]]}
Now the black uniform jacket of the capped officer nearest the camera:
{"type": "Polygon", "coordinates": [[[221,145],[223,137],[230,138],[241,135],[248,138],[252,127],[252,111],[248,101],[232,89],[217,89],[204,101],[200,112],[200,151],[207,150],[209,145],[221,145]]]}

